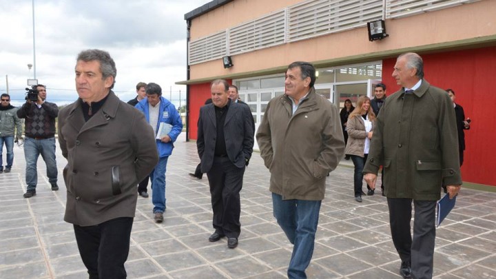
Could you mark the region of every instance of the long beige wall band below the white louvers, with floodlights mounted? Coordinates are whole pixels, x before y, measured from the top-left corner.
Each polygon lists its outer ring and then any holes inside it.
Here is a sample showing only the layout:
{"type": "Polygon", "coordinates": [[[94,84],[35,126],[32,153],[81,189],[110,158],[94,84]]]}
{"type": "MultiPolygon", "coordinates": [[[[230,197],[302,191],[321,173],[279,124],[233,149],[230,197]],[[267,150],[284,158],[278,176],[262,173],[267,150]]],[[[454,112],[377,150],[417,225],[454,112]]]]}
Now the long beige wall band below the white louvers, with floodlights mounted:
{"type": "MultiPolygon", "coordinates": [[[[245,1],[235,1],[237,2],[245,1]]],[[[230,69],[224,69],[220,59],[191,65],[190,79],[268,70],[288,65],[296,60],[326,61],[347,56],[367,56],[373,52],[415,49],[424,45],[494,36],[495,11],[496,1],[486,0],[402,19],[390,19],[386,21],[389,37],[382,41],[370,42],[366,28],[358,28],[234,55],[232,56],[234,67],[230,69]]],[[[455,45],[456,43],[448,44],[450,47],[455,45]]]]}

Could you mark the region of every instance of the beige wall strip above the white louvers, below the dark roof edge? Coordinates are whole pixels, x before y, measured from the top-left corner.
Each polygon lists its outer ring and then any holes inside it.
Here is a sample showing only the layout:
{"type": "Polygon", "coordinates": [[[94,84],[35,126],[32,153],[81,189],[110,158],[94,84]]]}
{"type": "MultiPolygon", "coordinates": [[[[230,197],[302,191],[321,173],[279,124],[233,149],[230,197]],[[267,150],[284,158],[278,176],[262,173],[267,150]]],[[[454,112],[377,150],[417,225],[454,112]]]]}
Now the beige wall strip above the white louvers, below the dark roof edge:
{"type": "Polygon", "coordinates": [[[301,0],[235,0],[192,20],[192,40],[263,17],[301,0]]]}

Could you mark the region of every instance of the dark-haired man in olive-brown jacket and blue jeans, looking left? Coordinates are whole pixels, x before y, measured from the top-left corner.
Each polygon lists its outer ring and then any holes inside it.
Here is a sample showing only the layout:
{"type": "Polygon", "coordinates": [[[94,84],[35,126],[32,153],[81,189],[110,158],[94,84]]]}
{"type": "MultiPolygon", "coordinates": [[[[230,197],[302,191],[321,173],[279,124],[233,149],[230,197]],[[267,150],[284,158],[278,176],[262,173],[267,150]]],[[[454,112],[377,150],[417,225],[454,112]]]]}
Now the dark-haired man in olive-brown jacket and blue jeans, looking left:
{"type": "Polygon", "coordinates": [[[294,245],[291,279],[307,278],[325,179],[344,153],[338,108],[316,93],[315,73],[307,62],[288,66],[286,94],[269,102],[256,134],[271,173],[273,215],[294,245]]]}

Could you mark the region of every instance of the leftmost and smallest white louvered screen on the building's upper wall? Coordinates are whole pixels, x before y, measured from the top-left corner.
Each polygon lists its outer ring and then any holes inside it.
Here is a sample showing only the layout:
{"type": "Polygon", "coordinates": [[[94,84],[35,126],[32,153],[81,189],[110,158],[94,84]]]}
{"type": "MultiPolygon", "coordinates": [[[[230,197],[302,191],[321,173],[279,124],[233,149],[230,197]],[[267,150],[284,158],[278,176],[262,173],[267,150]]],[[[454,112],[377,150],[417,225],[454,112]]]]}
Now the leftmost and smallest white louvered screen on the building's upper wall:
{"type": "Polygon", "coordinates": [[[226,31],[189,42],[189,65],[219,59],[226,55],[226,31]]]}

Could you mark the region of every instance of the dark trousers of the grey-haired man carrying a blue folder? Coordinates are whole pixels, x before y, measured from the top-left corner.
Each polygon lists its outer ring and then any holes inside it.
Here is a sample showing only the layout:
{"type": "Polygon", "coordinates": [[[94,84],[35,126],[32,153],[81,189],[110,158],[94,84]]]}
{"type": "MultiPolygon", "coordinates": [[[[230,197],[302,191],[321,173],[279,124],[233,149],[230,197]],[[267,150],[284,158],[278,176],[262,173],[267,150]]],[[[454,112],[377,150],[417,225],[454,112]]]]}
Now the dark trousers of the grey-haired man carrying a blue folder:
{"type": "Polygon", "coordinates": [[[403,262],[411,262],[412,277],[433,276],[435,244],[435,200],[413,200],[413,238],[410,232],[411,198],[388,198],[389,223],[396,251],[403,262]]]}

